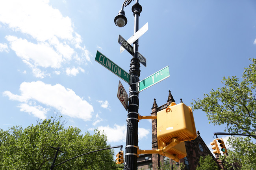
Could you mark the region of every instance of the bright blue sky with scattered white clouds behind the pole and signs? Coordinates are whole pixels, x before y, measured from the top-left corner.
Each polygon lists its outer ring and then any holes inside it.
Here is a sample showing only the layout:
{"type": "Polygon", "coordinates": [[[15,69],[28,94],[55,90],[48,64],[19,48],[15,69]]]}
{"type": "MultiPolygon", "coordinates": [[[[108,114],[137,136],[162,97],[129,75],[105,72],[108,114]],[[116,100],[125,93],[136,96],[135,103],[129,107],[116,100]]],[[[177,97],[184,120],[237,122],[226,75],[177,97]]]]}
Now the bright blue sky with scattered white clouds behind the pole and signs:
{"type": "MultiPolygon", "coordinates": [[[[118,36],[134,33],[133,1],[124,8],[128,23],[114,18],[122,1],[8,0],[0,2],[0,128],[35,124],[58,112],[82,132],[98,128],[109,144],[123,145],[127,112],[117,98],[119,80],[95,61],[100,51],[129,72],[131,55],[119,53],[118,36]]],[[[150,115],[154,98],[168,91],[191,106],[192,99],[221,87],[224,76],[241,78],[256,53],[254,0],[140,0],[139,52],[147,59],[140,80],[169,66],[170,77],[139,93],[140,115],[150,115]]],[[[207,145],[224,126],[208,124],[194,110],[196,129],[207,145]]],[[[139,148],[150,149],[151,123],[139,122],[139,148]]]]}

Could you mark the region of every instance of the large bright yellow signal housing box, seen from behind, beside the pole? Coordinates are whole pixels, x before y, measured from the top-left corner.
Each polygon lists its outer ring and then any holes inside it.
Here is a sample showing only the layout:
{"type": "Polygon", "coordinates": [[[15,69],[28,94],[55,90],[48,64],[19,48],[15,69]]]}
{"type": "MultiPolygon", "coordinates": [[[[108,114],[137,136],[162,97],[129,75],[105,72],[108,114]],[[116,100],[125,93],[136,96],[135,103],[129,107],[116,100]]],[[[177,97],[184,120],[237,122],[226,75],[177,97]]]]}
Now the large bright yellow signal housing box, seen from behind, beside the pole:
{"type": "Polygon", "coordinates": [[[197,138],[193,112],[186,104],[172,102],[156,115],[158,148],[161,143],[169,144],[173,137],[180,143],[197,138]]]}

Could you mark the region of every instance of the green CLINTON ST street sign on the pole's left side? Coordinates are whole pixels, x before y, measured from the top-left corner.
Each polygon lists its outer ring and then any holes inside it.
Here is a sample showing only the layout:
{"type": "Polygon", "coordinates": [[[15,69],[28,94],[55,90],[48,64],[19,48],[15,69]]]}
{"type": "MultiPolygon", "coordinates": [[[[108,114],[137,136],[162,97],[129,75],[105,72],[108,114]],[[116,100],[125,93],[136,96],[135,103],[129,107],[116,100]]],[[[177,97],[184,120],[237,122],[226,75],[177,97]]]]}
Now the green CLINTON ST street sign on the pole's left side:
{"type": "Polygon", "coordinates": [[[109,69],[112,73],[123,79],[124,81],[128,82],[130,84],[130,74],[124,71],[122,68],[117,66],[113,61],[109,60],[106,56],[104,56],[102,53],[97,51],[95,61],[100,63],[105,68],[109,69]]]}

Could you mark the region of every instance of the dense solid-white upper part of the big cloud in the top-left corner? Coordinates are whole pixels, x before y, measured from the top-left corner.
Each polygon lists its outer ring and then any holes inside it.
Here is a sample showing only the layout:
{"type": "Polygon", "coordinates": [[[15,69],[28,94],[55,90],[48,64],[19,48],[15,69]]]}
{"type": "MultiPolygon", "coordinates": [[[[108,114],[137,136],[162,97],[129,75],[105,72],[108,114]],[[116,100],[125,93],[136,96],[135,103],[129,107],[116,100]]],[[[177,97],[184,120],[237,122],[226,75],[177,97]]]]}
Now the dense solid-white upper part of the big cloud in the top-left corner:
{"type": "Polygon", "coordinates": [[[49,0],[1,1],[0,21],[39,41],[50,40],[54,36],[71,40],[71,19],[63,17],[58,9],[53,9],[48,3],[49,0]]]}

